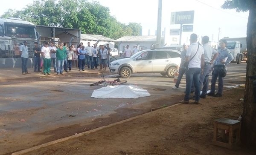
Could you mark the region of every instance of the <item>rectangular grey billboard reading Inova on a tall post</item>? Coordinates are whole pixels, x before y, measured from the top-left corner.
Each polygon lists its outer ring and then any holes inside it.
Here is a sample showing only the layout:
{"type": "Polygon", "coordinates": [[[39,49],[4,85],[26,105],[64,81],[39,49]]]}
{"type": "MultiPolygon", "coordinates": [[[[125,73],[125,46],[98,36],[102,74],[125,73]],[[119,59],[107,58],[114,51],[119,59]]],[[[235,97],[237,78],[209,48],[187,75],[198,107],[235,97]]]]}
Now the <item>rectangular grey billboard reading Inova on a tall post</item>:
{"type": "Polygon", "coordinates": [[[195,11],[180,11],[171,13],[171,24],[192,24],[194,23],[195,11]]]}

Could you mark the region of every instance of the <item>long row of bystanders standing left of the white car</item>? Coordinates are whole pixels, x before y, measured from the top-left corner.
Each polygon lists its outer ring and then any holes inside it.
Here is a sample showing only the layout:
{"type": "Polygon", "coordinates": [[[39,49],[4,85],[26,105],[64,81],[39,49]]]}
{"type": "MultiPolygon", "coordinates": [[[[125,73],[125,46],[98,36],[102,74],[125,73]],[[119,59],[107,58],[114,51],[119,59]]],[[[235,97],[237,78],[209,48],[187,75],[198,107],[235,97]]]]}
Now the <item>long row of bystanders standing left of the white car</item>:
{"type": "MultiPolygon", "coordinates": [[[[27,70],[29,58],[27,43],[27,41],[24,41],[21,46],[14,45],[14,52],[21,57],[22,75],[30,74],[27,70]]],[[[88,42],[87,46],[83,46],[83,43],[80,43],[75,48],[73,44],[68,47],[66,43],[61,42],[56,48],[54,42],[48,43],[46,41],[42,47],[38,45],[38,42],[34,42],[34,72],[43,72],[44,75],[50,75],[52,64],[57,75],[63,74],[63,72],[70,72],[72,67],[77,67],[79,71],[84,71],[86,60],[88,69],[97,69],[99,64],[99,70],[106,70],[109,63],[110,50],[109,44],[97,47],[96,44],[90,46],[90,42],[88,42]]]]}

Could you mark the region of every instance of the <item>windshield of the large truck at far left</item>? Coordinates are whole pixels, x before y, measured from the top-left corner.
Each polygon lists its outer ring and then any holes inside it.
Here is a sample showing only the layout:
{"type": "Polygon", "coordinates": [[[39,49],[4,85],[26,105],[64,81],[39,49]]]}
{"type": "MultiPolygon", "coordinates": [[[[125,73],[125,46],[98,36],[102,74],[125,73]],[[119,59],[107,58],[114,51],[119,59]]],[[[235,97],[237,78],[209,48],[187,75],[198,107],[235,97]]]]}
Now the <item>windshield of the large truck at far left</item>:
{"type": "Polygon", "coordinates": [[[35,39],[35,27],[6,24],[6,36],[15,38],[35,39]]]}

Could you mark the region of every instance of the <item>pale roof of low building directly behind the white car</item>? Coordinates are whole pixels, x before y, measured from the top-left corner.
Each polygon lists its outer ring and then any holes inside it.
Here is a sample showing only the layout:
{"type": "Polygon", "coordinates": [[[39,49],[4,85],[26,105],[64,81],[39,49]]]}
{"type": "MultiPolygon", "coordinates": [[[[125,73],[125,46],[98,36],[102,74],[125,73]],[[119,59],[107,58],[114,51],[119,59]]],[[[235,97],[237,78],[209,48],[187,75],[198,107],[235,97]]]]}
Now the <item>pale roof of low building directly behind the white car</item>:
{"type": "MultiPolygon", "coordinates": [[[[161,37],[163,40],[163,36],[161,37]]],[[[125,41],[125,42],[140,42],[140,41],[148,41],[148,42],[156,42],[157,36],[155,35],[145,35],[145,36],[124,36],[115,40],[116,42],[125,41]]]]}

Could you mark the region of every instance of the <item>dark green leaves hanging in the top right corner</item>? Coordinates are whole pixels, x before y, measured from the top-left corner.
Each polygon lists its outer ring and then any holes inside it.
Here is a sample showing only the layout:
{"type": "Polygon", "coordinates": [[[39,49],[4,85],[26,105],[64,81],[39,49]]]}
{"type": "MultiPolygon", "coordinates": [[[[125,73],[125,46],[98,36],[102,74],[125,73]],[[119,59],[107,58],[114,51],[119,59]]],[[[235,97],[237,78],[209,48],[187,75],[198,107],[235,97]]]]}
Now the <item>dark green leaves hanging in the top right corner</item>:
{"type": "MultiPolygon", "coordinates": [[[[256,3],[256,0],[225,0],[221,6],[223,9],[236,9],[236,11],[248,11],[256,3]]],[[[255,9],[255,8],[254,8],[255,9]]]]}

